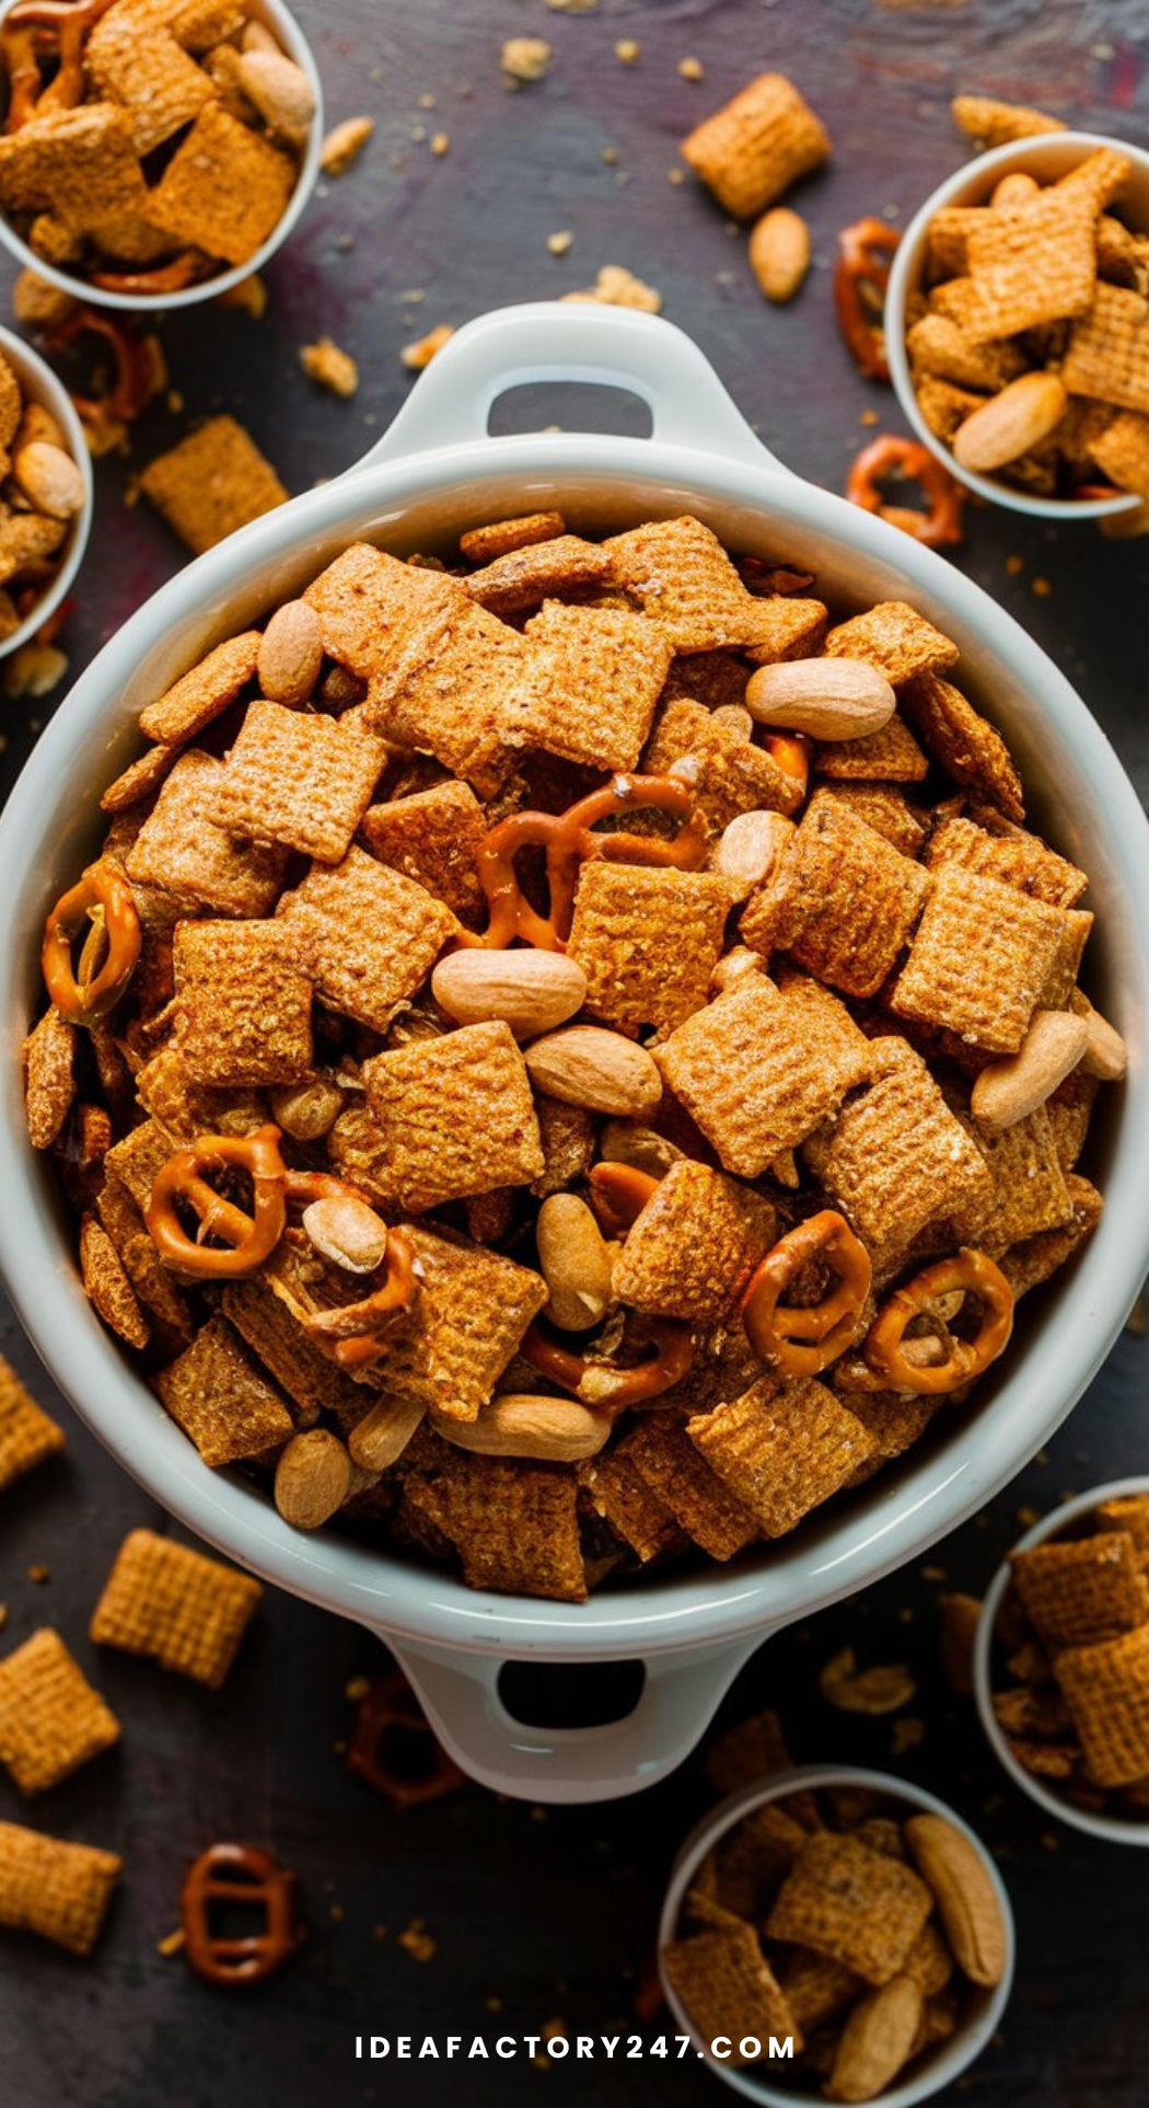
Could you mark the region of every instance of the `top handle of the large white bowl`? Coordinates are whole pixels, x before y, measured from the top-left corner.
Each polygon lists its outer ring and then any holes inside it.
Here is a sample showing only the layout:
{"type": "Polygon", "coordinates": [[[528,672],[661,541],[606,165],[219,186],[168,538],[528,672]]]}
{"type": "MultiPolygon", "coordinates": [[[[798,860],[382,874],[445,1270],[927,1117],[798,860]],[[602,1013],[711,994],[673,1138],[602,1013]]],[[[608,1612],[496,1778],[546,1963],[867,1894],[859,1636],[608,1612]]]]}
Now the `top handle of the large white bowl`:
{"type": "Polygon", "coordinates": [[[647,405],[651,438],[759,466],[765,455],[770,468],[782,468],[751,432],[710,360],[675,323],[632,308],[538,299],[495,308],[449,337],[352,474],[407,453],[487,438],[498,398],[535,382],[626,388],[647,405]]]}

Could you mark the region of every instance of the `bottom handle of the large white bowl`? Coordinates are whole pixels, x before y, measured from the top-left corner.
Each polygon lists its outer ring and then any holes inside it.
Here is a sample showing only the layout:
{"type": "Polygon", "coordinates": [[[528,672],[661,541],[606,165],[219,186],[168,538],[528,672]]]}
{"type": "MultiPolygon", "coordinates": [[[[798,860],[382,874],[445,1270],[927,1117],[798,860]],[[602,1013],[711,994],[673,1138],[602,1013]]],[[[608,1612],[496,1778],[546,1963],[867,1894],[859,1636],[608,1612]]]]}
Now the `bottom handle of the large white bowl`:
{"type": "Polygon", "coordinates": [[[706,1733],[717,1705],[765,1634],[643,1661],[643,1691],[603,1726],[527,1726],[502,1703],[498,1655],[424,1646],[379,1634],[398,1659],[439,1741],[481,1785],[517,1800],[618,1800],[658,1785],[706,1733]]]}

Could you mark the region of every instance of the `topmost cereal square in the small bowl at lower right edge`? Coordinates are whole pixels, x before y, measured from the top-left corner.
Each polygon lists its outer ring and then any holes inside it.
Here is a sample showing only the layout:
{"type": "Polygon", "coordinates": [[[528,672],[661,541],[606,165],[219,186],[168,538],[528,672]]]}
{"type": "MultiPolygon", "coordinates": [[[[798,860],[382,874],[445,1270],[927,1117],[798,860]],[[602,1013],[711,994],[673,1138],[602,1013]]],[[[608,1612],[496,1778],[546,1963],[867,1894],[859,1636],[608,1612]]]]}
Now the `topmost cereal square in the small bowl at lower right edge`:
{"type": "Polygon", "coordinates": [[[1149,1623],[1149,1581],[1126,1530],[1012,1551],[1010,1566],[1025,1615],[1050,1655],[1149,1623]]]}

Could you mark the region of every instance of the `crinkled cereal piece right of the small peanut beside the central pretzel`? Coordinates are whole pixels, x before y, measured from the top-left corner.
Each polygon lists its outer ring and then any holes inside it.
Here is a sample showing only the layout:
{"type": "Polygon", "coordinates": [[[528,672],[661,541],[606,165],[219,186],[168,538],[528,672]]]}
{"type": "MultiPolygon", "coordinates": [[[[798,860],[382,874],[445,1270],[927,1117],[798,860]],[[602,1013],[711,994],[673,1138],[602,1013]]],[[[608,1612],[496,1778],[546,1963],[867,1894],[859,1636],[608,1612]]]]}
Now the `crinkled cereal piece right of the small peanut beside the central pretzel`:
{"type": "Polygon", "coordinates": [[[928,892],[921,864],[816,790],[774,873],[751,894],[740,936],[791,953],[843,995],[877,995],[928,892]]]}

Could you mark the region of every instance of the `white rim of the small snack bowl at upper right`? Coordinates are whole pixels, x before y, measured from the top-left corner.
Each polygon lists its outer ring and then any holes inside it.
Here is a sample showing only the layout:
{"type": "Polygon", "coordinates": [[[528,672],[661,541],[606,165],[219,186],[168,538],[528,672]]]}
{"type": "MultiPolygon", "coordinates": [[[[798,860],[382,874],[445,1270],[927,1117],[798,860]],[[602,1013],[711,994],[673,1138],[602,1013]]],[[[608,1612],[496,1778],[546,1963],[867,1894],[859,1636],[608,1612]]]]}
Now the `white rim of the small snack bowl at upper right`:
{"type": "Polygon", "coordinates": [[[968,491],[976,491],[978,497],[987,497],[991,504],[1004,506],[1008,512],[1027,512],[1031,519],[1090,521],[1107,519],[1115,512],[1132,512],[1141,500],[1134,493],[1122,497],[1033,497],[1029,491],[1014,491],[993,476],[982,476],[972,468],[961,468],[951,447],[947,447],[944,441],[940,441],[938,434],[926,424],[926,417],[917,407],[917,394],[907,358],[907,297],[911,291],[917,291],[921,280],[921,264],[915,268],[913,257],[919,247],[923,249],[923,236],[934,219],[934,213],[949,204],[959,192],[970,190],[970,186],[980,186],[982,177],[989,194],[995,188],[995,181],[999,181],[1001,175],[1010,175],[1014,169],[1039,173],[1041,160],[1054,148],[1060,152],[1065,148],[1079,148],[1082,160],[1086,160],[1088,154],[1096,154],[1098,148],[1113,148],[1117,154],[1126,154],[1130,160],[1138,162],[1138,167],[1143,167],[1149,175],[1149,154],[1145,148],[1138,148],[1128,139],[1111,139],[1107,133],[1086,131],[1041,133],[1035,139],[1012,139],[1008,145],[991,148],[989,154],[978,154],[974,160],[963,162],[961,169],[955,169],[944,183],[938,183],[938,188],[930,192],[898,242],[890,270],[890,285],[885,289],[885,356],[890,360],[890,379],[894,382],[902,415],[911,422],[921,445],[928,447],[942,468],[949,468],[951,476],[957,476],[968,491]]]}

